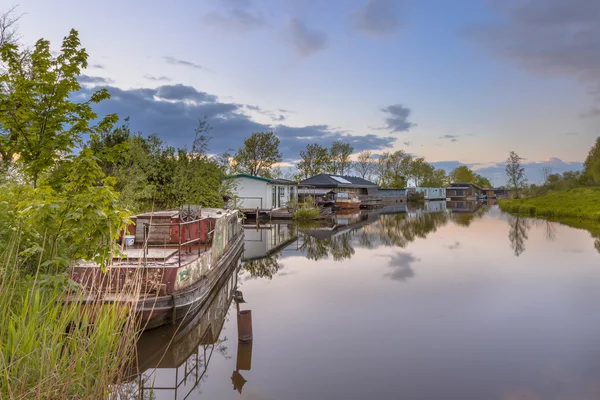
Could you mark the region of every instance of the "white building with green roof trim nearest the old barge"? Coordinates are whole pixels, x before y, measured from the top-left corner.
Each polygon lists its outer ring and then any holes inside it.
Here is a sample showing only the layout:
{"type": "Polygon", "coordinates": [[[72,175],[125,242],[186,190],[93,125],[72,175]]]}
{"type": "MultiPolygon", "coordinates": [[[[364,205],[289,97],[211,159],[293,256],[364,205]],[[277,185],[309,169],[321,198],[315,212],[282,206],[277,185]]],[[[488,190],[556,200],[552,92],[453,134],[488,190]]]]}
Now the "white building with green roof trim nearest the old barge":
{"type": "Polygon", "coordinates": [[[225,179],[233,181],[233,203],[244,211],[274,210],[298,201],[298,183],[288,179],[271,179],[237,174],[225,179]]]}

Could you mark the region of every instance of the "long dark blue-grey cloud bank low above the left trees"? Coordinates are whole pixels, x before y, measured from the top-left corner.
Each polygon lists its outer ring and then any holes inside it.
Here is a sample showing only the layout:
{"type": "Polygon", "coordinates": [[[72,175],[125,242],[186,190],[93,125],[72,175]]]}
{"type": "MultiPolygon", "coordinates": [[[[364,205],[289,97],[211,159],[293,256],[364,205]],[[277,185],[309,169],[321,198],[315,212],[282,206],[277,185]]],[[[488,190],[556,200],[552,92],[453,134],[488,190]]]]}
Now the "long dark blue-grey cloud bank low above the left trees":
{"type": "MultiPolygon", "coordinates": [[[[83,87],[75,95],[76,100],[89,98],[96,89],[83,87]]],[[[296,160],[310,143],[330,146],[335,140],[343,140],[354,146],[355,151],[361,151],[389,148],[395,142],[394,137],[352,134],[328,125],[292,127],[259,123],[244,113],[248,106],[221,102],[217,96],[192,86],[163,85],[152,89],[107,86],[107,89],[111,98],[93,105],[98,115],[117,113],[122,118],[130,117],[132,131],[145,135],[156,133],[172,146],[190,146],[194,128],[202,118],[212,127],[209,147],[213,153],[237,150],[253,132],[270,130],[279,136],[286,161],[296,160]]]]}

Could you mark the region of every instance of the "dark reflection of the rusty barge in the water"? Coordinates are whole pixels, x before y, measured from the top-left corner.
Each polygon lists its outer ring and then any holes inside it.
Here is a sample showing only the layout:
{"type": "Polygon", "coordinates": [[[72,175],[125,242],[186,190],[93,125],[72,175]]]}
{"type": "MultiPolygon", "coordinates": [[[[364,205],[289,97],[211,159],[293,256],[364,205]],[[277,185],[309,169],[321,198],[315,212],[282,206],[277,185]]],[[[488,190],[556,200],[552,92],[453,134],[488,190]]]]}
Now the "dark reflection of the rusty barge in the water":
{"type": "MultiPolygon", "coordinates": [[[[202,393],[201,382],[215,355],[231,358],[229,339],[221,331],[236,293],[239,267],[234,263],[224,272],[207,305],[195,316],[141,336],[132,380],[119,388],[119,398],[178,399],[202,393]]],[[[244,350],[241,357],[248,357],[244,350]]]]}

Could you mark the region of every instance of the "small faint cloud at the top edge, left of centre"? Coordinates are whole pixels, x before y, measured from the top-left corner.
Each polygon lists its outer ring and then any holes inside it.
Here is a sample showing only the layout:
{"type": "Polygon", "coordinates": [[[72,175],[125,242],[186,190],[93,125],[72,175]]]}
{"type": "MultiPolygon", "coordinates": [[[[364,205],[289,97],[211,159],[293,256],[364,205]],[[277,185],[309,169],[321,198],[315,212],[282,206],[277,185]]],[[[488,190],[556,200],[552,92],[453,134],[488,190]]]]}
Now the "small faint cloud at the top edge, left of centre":
{"type": "Polygon", "coordinates": [[[246,32],[266,25],[263,15],[254,10],[250,0],[221,0],[219,10],[207,13],[203,20],[227,31],[246,32]]]}

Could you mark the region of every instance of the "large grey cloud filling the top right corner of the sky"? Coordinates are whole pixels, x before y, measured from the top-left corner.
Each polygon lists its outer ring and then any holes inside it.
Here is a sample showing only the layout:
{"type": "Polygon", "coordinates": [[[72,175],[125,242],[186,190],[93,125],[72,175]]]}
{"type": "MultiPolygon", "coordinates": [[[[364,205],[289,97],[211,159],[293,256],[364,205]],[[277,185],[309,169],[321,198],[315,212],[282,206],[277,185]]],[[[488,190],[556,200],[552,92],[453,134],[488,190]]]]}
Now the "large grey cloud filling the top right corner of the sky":
{"type": "Polygon", "coordinates": [[[600,88],[599,1],[496,0],[492,5],[500,22],[473,27],[467,37],[531,73],[575,77],[592,95],[600,88]]]}

